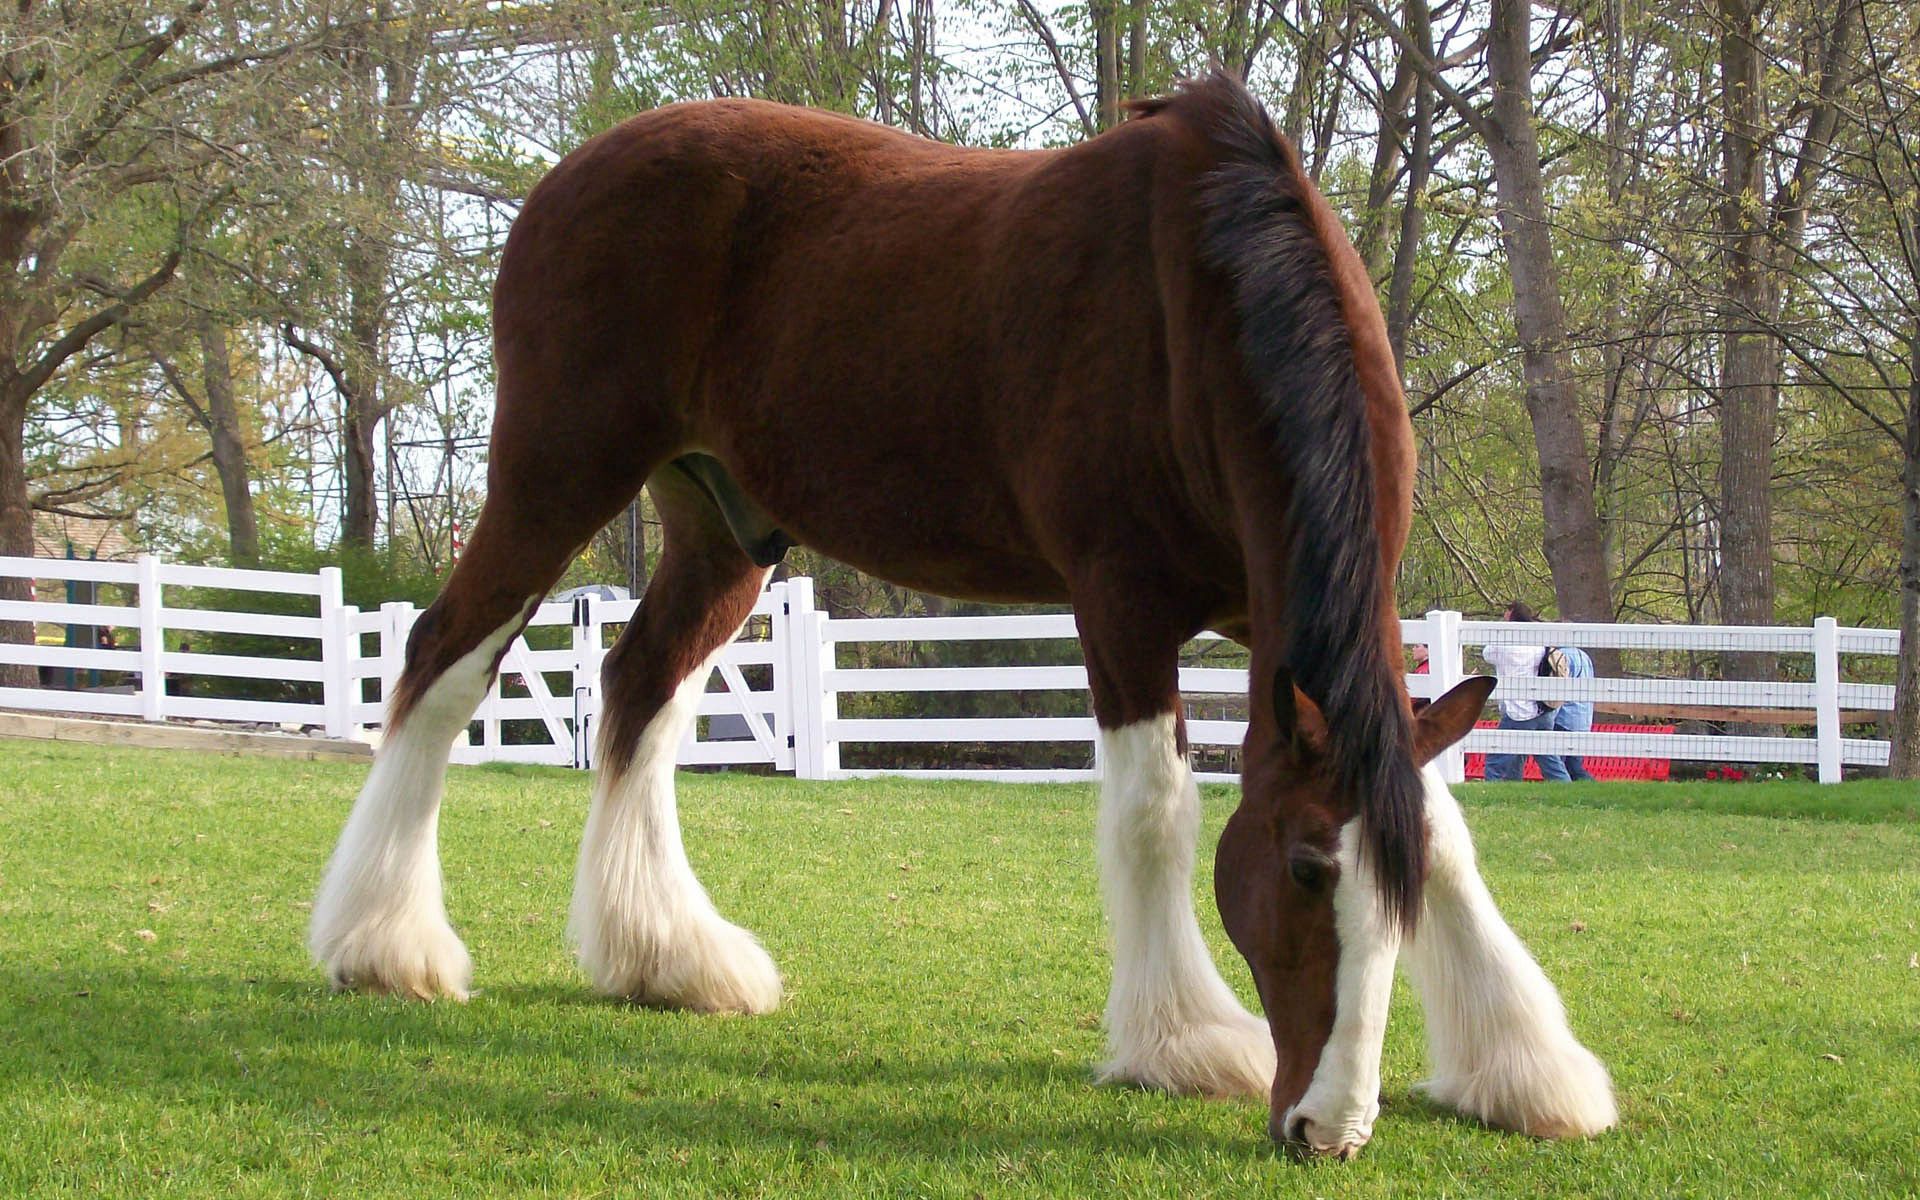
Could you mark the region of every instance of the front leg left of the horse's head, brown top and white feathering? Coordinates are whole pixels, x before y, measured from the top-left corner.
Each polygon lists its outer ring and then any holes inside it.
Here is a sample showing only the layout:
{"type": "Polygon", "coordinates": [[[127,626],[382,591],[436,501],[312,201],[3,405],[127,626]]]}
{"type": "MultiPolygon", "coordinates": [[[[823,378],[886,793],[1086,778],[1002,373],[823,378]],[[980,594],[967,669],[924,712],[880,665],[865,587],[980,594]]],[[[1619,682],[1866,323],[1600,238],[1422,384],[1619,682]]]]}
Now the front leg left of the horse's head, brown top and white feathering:
{"type": "Polygon", "coordinates": [[[1194,918],[1200,789],[1177,714],[1181,634],[1154,639],[1152,614],[1108,611],[1154,588],[1089,591],[1075,591],[1075,616],[1100,720],[1096,841],[1114,933],[1100,1079],[1265,1096],[1273,1035],[1219,977],[1194,918]]]}

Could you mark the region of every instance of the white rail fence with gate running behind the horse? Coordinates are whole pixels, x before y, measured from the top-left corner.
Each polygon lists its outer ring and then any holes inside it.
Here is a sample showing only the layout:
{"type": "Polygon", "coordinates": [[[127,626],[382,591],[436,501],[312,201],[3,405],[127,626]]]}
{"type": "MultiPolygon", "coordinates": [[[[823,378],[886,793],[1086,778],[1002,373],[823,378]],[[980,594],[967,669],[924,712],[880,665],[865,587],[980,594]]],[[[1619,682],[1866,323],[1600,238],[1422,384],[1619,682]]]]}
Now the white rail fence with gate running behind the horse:
{"type": "MultiPolygon", "coordinates": [[[[142,557],[136,563],[0,557],[0,576],[65,582],[125,591],[125,603],[0,601],[0,620],[31,620],[42,630],[115,630],[132,647],[0,643],[0,662],[31,664],[48,678],[40,687],[0,687],[0,707],[56,712],[136,716],[142,720],[198,718],[223,722],[298,724],[334,737],[372,737],[386,697],[405,659],[407,634],[419,611],[390,603],[359,611],[342,603],[336,568],[317,574],[179,566],[142,557]],[[286,597],[298,614],[205,609],[167,603],[167,589],[223,589],[286,597]],[[273,655],[186,649],[194,636],[242,634],[275,641],[273,655]],[[292,699],[207,695],[223,680],[271,680],[292,699]]],[[[582,597],[534,611],[528,636],[515,639],[474,714],[455,760],[591,764],[599,714],[599,670],[636,601],[582,597]],[[532,643],[530,643],[532,639],[532,643]]],[[[739,641],[718,659],[718,689],[701,701],[699,728],[682,747],[684,764],[766,764],[801,778],[852,774],[935,774],[991,780],[1085,780],[1098,774],[1092,716],[841,716],[843,695],[941,695],[1008,691],[1087,691],[1085,666],[841,666],[841,647],[858,643],[925,641],[1069,641],[1071,614],[910,616],[833,620],[814,607],[812,580],[774,584],[755,607],[739,641]],[[718,726],[732,726],[730,735],[718,726]],[[977,768],[910,772],[887,766],[852,770],[843,747],[902,743],[1081,743],[1083,766],[977,768]]],[[[1440,695],[1484,670],[1478,651],[1492,643],[1553,643],[1622,651],[1772,651],[1797,660],[1801,682],[1690,678],[1530,678],[1501,684],[1496,699],[1594,701],[1611,707],[1759,708],[1780,710],[1782,724],[1807,712],[1811,737],[1743,737],[1718,733],[1565,733],[1475,732],[1450,753],[1446,768],[1461,778],[1465,751],[1534,755],[1619,755],[1707,762],[1797,762],[1818,768],[1822,781],[1845,766],[1884,766],[1887,743],[1845,737],[1843,712],[1884,712],[1893,707],[1885,684],[1843,682],[1843,666],[1860,657],[1899,655],[1895,630],[1841,630],[1830,618],[1811,628],[1791,626],[1634,626],[1534,624],[1463,620],[1459,612],[1428,612],[1402,620],[1405,643],[1428,647],[1428,674],[1407,676],[1417,697],[1440,695]],[[1473,647],[1473,649],[1469,649],[1473,647]]],[[[845,655],[854,659],[856,655],[845,655]]],[[[228,691],[230,685],[225,685],[228,691]]],[[[1246,672],[1188,666],[1181,670],[1188,701],[1206,695],[1246,695],[1246,672]]],[[[922,707],[927,707],[922,701],[922,707]]],[[[1240,720],[1188,720],[1196,747],[1236,747],[1240,720]]],[[[996,756],[1006,755],[1002,749],[996,756]]],[[[883,762],[872,749],[866,762],[883,762]]],[[[1231,778],[1208,774],[1202,778],[1231,778]]]]}

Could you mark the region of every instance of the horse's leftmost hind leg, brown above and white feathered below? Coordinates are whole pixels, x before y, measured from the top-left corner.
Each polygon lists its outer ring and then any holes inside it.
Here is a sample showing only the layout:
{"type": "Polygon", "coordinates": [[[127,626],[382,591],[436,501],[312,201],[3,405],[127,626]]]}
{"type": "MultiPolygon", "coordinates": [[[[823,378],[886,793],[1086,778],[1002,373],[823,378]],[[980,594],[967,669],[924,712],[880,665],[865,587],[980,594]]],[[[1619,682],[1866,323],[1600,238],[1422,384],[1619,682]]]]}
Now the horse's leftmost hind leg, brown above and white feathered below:
{"type": "Polygon", "coordinates": [[[336,987],[465,998],[472,966],[440,897],[447,753],[532,607],[637,490],[637,478],[507,470],[540,465],[541,451],[516,445],[495,438],[486,507],[413,626],[386,737],[315,895],[307,947],[336,987]]]}

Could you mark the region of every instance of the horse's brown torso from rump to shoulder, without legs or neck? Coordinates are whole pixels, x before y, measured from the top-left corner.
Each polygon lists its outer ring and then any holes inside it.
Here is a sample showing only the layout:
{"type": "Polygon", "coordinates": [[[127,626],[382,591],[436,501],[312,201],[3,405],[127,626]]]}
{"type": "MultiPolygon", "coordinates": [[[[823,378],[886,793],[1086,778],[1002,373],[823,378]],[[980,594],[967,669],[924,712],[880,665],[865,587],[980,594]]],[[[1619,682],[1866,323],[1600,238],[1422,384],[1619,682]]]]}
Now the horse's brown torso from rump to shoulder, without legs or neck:
{"type": "Polygon", "coordinates": [[[624,380],[833,557],[900,578],[910,524],[998,563],[902,582],[1058,595],[1089,530],[1179,493],[1152,474],[1177,455],[1139,447],[1173,426],[1156,204],[1192,175],[1167,184],[1173,131],[1152,125],[1010,152],[751,100],[641,113],[528,198],[503,367],[624,380]]]}

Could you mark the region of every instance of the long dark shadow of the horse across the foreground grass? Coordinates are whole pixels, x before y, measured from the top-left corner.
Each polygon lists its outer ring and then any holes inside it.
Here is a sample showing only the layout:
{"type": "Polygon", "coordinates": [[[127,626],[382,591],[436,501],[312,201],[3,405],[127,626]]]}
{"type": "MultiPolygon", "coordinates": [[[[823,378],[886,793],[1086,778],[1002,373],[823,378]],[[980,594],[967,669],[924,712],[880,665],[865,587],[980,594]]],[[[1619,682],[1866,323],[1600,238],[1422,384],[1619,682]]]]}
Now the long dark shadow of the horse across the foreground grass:
{"type": "Polygon", "coordinates": [[[428,1006],[332,996],[309,979],[0,968],[0,1021],[10,1089],[58,1081],[286,1121],[324,1112],[344,1129],[424,1117],[695,1154],[925,1162],[1142,1142],[1273,1156],[1263,1106],[1233,1106],[1223,1140],[1219,1121],[1181,1119],[1202,1100],[1096,1089],[1085,1062],[973,1048],[958,1029],[866,1044],[858,1029],[649,1012],[559,985],[428,1006]]]}

